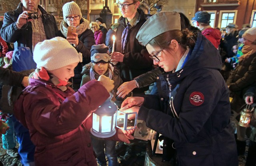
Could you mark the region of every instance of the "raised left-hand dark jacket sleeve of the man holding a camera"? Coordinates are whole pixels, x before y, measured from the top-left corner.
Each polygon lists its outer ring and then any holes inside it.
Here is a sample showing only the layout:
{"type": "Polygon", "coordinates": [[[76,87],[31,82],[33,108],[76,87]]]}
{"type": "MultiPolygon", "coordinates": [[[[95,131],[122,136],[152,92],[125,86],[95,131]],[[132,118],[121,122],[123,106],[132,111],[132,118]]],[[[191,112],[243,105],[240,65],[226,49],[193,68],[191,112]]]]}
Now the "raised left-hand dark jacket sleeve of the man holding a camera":
{"type": "Polygon", "coordinates": [[[18,14],[14,13],[13,11],[6,12],[4,14],[4,24],[1,28],[0,36],[2,36],[2,38],[6,42],[11,42],[11,43],[16,42],[20,37],[20,34],[22,33],[22,30],[18,29],[16,26],[17,18],[18,18],[18,14]],[[11,16],[14,16],[14,17],[11,17],[11,16]],[[14,20],[14,18],[16,19],[14,20]]]}

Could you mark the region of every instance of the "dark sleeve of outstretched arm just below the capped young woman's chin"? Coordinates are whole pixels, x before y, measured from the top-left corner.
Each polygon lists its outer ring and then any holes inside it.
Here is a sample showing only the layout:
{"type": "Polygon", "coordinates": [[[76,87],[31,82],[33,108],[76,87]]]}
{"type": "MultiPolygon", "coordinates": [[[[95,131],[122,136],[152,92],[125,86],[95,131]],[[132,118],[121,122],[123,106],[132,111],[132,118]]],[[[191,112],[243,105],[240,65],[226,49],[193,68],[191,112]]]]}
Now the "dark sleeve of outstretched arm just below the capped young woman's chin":
{"type": "Polygon", "coordinates": [[[156,77],[158,77],[159,74],[162,74],[162,72],[158,68],[156,68],[134,78],[134,80],[138,82],[139,87],[145,87],[156,82],[156,77]]]}

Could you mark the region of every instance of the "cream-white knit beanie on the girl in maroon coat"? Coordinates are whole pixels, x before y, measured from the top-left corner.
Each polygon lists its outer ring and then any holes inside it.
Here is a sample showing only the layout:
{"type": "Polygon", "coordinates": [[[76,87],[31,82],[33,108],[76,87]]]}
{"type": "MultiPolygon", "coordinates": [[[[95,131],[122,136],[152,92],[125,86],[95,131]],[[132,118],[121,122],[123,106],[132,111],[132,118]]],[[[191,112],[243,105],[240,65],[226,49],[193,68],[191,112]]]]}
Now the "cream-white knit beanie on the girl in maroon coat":
{"type": "Polygon", "coordinates": [[[44,67],[46,70],[55,70],[82,62],[82,54],[78,53],[66,39],[55,37],[36,44],[33,59],[37,68],[44,67]]]}

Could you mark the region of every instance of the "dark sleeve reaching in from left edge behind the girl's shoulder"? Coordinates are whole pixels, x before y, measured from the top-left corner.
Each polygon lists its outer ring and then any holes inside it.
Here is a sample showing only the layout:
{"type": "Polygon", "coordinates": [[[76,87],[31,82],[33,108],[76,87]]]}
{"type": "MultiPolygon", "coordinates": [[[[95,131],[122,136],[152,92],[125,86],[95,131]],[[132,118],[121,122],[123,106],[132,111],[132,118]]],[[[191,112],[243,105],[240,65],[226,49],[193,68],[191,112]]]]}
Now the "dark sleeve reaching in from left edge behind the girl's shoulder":
{"type": "Polygon", "coordinates": [[[21,86],[24,74],[0,67],[0,82],[10,86],[21,86]]]}

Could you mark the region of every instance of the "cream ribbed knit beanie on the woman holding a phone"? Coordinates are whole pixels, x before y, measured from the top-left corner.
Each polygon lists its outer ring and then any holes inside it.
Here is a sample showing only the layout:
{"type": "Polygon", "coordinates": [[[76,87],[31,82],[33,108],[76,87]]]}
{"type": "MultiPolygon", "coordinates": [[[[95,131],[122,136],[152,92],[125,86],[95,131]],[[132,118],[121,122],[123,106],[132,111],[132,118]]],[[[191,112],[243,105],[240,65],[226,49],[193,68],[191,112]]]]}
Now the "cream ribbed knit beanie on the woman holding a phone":
{"type": "Polygon", "coordinates": [[[62,7],[62,11],[63,11],[63,19],[65,22],[67,22],[66,17],[72,14],[78,15],[80,16],[80,20],[82,19],[81,10],[78,4],[76,4],[76,2],[74,1],[64,4],[62,7]]]}

